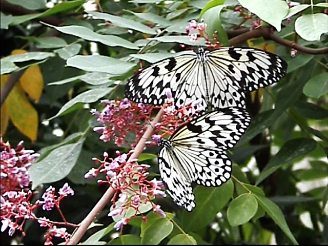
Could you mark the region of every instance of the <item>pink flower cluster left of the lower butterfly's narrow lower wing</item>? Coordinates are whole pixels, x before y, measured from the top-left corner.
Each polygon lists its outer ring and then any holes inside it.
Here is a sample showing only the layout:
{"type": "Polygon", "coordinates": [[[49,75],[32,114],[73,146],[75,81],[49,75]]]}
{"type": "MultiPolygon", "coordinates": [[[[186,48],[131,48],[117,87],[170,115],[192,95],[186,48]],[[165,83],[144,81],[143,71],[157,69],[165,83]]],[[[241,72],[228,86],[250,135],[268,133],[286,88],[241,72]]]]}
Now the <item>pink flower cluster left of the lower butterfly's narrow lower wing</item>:
{"type": "Polygon", "coordinates": [[[108,214],[115,220],[115,216],[122,218],[116,219],[114,228],[116,230],[123,227],[129,222],[131,217],[140,214],[140,208],[147,204],[150,209],[165,217],[165,213],[160,209],[160,206],[153,203],[155,196],[165,197],[166,194],[161,191],[163,187],[162,181],[157,181],[155,178],[151,181],[147,180],[150,168],[149,165],[137,163],[137,159],[127,160],[133,153],[120,154],[118,151],[117,157],[112,159],[108,154],[104,153],[104,160],[93,158],[93,161],[99,163],[100,166],[92,168],[85,175],[86,178],[97,176],[99,173],[106,174],[106,180],[98,180],[98,183],[108,183],[115,191],[112,198],[113,207],[108,214]],[[134,214],[126,218],[124,215],[128,209],[133,209],[134,214]]]}

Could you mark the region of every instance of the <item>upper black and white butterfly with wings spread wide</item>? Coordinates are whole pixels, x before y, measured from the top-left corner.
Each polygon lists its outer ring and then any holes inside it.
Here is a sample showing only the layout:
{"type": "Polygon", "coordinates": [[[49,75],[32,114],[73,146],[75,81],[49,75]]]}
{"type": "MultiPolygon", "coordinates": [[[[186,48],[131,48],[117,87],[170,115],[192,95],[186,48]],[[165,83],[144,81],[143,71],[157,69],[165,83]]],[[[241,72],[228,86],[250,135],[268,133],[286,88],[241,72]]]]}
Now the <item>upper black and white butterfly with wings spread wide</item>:
{"type": "Polygon", "coordinates": [[[128,81],[125,93],[135,103],[156,106],[171,90],[178,108],[197,99],[205,109],[244,107],[245,92],[276,83],[286,69],[279,56],[255,48],[199,48],[141,70],[128,81]]]}

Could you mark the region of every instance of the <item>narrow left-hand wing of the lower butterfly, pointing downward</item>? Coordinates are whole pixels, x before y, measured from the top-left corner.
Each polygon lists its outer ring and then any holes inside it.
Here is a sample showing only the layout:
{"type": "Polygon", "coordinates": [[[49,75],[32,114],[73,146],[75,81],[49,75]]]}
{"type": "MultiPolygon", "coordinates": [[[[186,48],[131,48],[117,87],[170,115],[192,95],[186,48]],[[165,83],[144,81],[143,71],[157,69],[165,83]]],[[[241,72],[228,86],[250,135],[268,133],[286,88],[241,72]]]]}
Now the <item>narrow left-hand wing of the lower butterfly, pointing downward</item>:
{"type": "Polygon", "coordinates": [[[175,157],[165,146],[158,153],[158,165],[160,176],[173,201],[187,211],[192,211],[196,204],[190,182],[181,175],[178,170],[179,163],[176,163],[175,157]]]}

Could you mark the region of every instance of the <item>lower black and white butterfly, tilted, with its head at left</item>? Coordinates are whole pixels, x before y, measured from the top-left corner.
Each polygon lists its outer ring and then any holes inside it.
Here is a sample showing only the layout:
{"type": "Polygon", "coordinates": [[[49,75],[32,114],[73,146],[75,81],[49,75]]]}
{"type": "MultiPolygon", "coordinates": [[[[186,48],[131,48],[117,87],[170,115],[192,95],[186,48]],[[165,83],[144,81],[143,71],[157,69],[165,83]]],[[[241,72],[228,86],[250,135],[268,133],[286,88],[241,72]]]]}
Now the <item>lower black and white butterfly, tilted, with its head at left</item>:
{"type": "Polygon", "coordinates": [[[160,141],[160,176],[178,206],[187,211],[196,206],[192,182],[217,187],[229,180],[232,161],[224,151],[237,144],[250,122],[246,109],[224,108],[192,119],[160,141]]]}

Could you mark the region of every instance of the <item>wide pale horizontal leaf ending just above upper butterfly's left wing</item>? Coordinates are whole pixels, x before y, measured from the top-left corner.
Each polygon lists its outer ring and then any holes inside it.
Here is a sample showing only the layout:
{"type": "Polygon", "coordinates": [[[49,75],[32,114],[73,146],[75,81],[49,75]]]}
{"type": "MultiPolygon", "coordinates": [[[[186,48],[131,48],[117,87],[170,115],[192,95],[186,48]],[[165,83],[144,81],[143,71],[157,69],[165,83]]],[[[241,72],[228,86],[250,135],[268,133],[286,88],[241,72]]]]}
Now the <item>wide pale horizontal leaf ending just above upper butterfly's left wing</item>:
{"type": "Polygon", "coordinates": [[[88,72],[103,72],[122,75],[130,71],[135,64],[103,55],[75,55],[66,61],[67,66],[88,72]]]}

